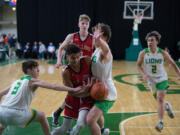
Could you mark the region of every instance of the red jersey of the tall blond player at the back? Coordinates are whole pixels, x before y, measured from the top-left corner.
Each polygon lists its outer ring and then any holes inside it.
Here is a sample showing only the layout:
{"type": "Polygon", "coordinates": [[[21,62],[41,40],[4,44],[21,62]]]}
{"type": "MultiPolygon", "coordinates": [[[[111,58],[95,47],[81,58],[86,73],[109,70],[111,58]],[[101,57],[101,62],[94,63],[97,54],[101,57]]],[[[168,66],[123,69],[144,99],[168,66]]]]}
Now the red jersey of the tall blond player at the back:
{"type": "Polygon", "coordinates": [[[88,33],[87,38],[82,41],[79,35],[79,32],[75,33],[73,36],[73,44],[76,44],[79,46],[79,48],[83,52],[83,56],[92,56],[93,53],[93,36],[88,33]]]}

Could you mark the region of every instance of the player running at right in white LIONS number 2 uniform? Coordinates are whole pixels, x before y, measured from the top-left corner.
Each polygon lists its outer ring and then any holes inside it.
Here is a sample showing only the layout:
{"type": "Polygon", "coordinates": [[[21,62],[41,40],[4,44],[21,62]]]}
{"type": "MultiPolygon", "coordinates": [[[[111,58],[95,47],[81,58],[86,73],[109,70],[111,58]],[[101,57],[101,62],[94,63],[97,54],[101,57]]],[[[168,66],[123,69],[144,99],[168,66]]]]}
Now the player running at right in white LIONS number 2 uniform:
{"type": "Polygon", "coordinates": [[[160,39],[161,35],[157,31],[148,33],[146,36],[148,48],[140,52],[137,61],[139,73],[142,75],[143,79],[148,82],[149,88],[154,93],[154,97],[157,100],[159,122],[155,129],[159,132],[163,129],[163,115],[165,109],[168,112],[168,116],[174,118],[171,104],[164,101],[168,89],[168,76],[164,69],[164,60],[172,65],[178,75],[178,80],[180,80],[180,70],[174,60],[166,51],[158,48],[160,39]],[[142,64],[144,64],[144,68],[142,64]]]}

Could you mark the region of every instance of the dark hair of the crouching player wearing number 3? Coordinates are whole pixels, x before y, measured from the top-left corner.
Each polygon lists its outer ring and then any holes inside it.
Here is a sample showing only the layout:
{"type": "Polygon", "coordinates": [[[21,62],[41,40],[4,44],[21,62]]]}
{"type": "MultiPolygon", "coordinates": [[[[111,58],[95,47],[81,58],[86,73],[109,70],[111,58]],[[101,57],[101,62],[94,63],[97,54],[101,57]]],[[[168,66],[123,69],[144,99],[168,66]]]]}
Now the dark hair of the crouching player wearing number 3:
{"type": "Polygon", "coordinates": [[[27,74],[28,69],[33,69],[38,66],[39,64],[36,61],[28,60],[22,63],[22,71],[27,74]]]}

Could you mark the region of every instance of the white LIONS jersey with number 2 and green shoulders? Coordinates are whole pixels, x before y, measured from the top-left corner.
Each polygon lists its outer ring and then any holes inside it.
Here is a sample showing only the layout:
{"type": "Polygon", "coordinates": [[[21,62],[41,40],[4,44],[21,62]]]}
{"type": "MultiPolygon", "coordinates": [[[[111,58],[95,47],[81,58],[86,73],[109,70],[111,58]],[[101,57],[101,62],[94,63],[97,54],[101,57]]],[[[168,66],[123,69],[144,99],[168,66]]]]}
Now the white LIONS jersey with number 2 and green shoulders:
{"type": "Polygon", "coordinates": [[[152,53],[148,48],[145,49],[144,71],[149,75],[150,79],[155,80],[157,83],[167,80],[164,57],[160,48],[157,48],[155,53],[152,53]]]}

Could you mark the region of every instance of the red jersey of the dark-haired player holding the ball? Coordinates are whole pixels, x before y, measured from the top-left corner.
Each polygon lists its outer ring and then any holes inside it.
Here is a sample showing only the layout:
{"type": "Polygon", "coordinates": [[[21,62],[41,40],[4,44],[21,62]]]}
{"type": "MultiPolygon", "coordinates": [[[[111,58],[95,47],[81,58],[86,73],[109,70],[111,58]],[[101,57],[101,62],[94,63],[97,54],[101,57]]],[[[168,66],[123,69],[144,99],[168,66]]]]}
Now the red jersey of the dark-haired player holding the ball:
{"type": "Polygon", "coordinates": [[[80,59],[79,72],[75,72],[69,65],[66,66],[65,70],[69,71],[74,88],[82,86],[83,82],[87,82],[88,78],[91,76],[91,69],[84,58],[80,59]]]}

